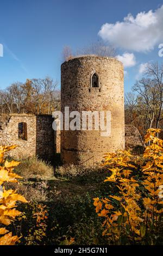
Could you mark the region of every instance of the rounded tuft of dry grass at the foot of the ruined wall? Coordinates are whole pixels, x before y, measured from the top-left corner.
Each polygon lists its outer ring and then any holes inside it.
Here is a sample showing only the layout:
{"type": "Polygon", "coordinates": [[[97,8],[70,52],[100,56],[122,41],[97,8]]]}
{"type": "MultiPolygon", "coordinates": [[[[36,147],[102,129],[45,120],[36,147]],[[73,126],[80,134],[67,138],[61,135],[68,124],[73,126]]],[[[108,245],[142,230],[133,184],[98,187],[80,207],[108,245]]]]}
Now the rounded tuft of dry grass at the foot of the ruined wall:
{"type": "Polygon", "coordinates": [[[53,167],[36,157],[29,157],[28,159],[20,160],[20,162],[15,172],[23,178],[50,179],[54,176],[53,167]]]}

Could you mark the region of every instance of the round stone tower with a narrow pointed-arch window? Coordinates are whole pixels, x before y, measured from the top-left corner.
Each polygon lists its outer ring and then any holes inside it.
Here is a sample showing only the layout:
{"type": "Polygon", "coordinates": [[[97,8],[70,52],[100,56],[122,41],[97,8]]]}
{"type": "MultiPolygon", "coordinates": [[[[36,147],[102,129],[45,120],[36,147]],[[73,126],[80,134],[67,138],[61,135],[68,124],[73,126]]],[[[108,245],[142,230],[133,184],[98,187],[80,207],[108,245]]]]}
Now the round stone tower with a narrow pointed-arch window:
{"type": "MultiPolygon", "coordinates": [[[[95,129],[61,131],[61,159],[64,163],[92,166],[101,162],[103,154],[124,149],[123,65],[114,58],[83,56],[61,65],[61,112],[105,112],[110,117],[110,133],[101,126],[95,129]]],[[[99,114],[100,115],[100,114],[99,114]]],[[[70,118],[71,121],[72,118],[70,118]]],[[[101,120],[100,117],[98,120],[101,120]]],[[[87,119],[88,123],[88,119],[87,119]]],[[[65,121],[64,121],[65,126],[65,121]]]]}

